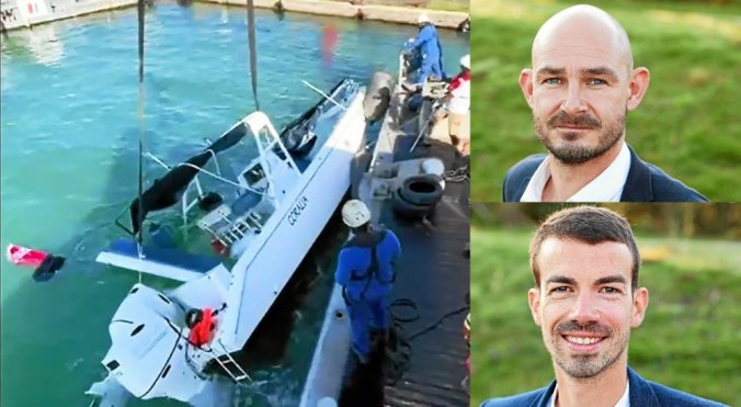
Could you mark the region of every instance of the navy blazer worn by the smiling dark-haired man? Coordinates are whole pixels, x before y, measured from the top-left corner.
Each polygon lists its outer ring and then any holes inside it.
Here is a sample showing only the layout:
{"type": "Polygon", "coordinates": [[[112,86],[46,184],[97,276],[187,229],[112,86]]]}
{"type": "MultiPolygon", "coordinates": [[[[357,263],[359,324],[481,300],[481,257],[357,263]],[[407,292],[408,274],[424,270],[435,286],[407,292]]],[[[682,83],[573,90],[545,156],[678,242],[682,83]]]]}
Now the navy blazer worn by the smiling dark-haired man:
{"type": "MultiPolygon", "coordinates": [[[[687,393],[675,391],[658,383],[647,381],[628,368],[630,383],[630,407],[721,407],[722,404],[706,400],[687,393]]],[[[556,381],[548,387],[512,397],[492,398],[481,407],[547,407],[556,389],[556,381]]]]}

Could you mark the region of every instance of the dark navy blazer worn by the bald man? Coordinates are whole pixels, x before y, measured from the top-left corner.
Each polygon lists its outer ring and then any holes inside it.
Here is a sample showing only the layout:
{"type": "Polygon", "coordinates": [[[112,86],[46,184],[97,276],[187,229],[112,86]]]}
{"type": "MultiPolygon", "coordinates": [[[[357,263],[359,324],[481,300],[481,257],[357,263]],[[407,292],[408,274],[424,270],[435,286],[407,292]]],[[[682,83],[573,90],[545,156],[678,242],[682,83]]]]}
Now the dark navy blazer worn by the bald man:
{"type": "MultiPolygon", "coordinates": [[[[630,170],[623,188],[620,202],[707,202],[699,192],[669,177],[658,167],[650,165],[630,150],[630,170]]],[[[504,178],[502,197],[504,202],[518,202],[527,183],[547,155],[529,156],[510,169],[504,178]]]]}

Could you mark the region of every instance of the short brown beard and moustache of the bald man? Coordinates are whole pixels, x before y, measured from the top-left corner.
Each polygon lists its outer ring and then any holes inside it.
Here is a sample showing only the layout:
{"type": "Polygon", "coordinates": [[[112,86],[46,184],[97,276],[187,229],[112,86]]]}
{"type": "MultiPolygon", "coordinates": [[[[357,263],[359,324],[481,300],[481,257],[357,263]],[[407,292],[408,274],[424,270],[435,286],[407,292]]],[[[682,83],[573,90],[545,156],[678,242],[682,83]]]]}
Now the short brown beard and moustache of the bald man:
{"type": "Polygon", "coordinates": [[[568,166],[577,166],[604,155],[620,140],[620,137],[625,133],[627,113],[626,109],[624,114],[609,121],[604,126],[602,122],[589,113],[572,117],[559,111],[545,122],[533,113],[533,126],[543,145],[546,146],[556,159],[568,166]],[[567,132],[562,136],[565,142],[558,140],[556,137],[559,136],[555,135],[554,132],[559,126],[579,126],[597,129],[600,131],[597,145],[595,147],[579,145],[577,140],[580,133],[577,132],[567,132]]]}

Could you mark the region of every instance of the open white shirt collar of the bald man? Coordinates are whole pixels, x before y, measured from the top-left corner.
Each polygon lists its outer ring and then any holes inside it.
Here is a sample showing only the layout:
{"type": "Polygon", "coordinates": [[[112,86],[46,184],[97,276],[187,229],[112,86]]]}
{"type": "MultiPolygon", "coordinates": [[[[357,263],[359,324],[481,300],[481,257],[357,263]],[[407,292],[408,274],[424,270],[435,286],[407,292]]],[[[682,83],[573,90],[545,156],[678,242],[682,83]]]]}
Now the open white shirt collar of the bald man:
{"type": "MultiPolygon", "coordinates": [[[[550,179],[549,163],[550,156],[546,157],[535,170],[520,202],[540,202],[543,200],[543,189],[550,179]]],[[[623,143],[623,148],[613,162],[566,202],[619,202],[629,171],[630,150],[628,145],[623,143]]]]}

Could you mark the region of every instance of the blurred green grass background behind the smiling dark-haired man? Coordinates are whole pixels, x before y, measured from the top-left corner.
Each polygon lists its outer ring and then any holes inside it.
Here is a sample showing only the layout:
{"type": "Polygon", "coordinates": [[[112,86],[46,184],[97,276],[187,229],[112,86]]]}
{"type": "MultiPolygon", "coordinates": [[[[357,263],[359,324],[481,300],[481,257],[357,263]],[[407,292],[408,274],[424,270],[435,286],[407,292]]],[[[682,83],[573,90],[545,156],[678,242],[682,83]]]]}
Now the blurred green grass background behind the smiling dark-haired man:
{"type": "MultiPolygon", "coordinates": [[[[543,387],[554,378],[527,306],[527,250],[535,226],[471,228],[471,405],[543,387]]],[[[647,237],[646,319],[632,331],[629,364],[664,385],[741,406],[741,242],[647,237]]]]}

